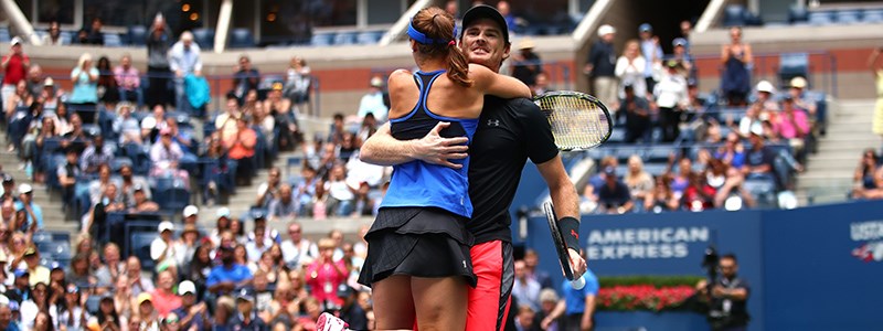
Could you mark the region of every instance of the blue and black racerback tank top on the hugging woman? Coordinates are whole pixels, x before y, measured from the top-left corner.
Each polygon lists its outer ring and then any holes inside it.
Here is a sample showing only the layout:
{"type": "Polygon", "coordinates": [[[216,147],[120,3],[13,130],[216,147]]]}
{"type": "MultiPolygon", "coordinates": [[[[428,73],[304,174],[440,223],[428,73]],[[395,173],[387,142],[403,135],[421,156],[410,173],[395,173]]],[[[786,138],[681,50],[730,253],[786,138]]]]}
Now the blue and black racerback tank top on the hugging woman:
{"type": "MultiPolygon", "coordinates": [[[[450,126],[442,130],[445,138],[467,137],[469,142],[478,127],[478,118],[451,118],[433,114],[426,107],[426,99],[436,78],[445,71],[430,73],[416,72],[414,81],[419,87],[419,100],[407,115],[390,119],[393,137],[400,140],[418,139],[426,136],[439,121],[450,126]]],[[[467,142],[468,143],[468,142],[467,142]]],[[[460,169],[429,164],[419,160],[393,167],[390,189],[381,202],[381,207],[423,207],[435,206],[465,217],[472,216],[472,202],[469,200],[469,158],[453,160],[460,169]]]]}

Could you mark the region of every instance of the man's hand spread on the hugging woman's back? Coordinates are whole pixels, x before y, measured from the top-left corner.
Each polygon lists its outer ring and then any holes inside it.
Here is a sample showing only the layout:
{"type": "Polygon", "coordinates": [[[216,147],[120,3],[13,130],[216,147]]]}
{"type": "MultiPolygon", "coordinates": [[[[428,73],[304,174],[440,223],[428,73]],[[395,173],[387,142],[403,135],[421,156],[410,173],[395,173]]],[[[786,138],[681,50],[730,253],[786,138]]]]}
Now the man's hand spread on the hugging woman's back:
{"type": "Polygon", "coordinates": [[[450,126],[450,122],[439,121],[425,137],[417,140],[414,147],[414,157],[433,164],[445,166],[453,169],[460,169],[462,164],[450,162],[450,160],[465,159],[469,149],[465,143],[469,141],[466,137],[444,138],[439,134],[443,129],[450,126]]]}

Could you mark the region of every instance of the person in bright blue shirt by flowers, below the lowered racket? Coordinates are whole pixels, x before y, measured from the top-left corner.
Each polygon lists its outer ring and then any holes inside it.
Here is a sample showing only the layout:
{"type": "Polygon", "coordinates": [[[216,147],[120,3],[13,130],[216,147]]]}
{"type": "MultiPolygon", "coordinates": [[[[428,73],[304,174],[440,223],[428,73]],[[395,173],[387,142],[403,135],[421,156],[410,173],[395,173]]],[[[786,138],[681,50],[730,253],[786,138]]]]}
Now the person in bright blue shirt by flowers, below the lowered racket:
{"type": "Polygon", "coordinates": [[[571,330],[593,330],[594,314],[595,314],[595,297],[598,295],[598,278],[592,270],[586,269],[583,274],[586,285],[582,289],[574,289],[570,281],[562,281],[561,292],[563,298],[558,301],[555,310],[552,311],[544,320],[543,324],[547,324],[558,317],[562,319],[561,329],[565,331],[571,330]]]}

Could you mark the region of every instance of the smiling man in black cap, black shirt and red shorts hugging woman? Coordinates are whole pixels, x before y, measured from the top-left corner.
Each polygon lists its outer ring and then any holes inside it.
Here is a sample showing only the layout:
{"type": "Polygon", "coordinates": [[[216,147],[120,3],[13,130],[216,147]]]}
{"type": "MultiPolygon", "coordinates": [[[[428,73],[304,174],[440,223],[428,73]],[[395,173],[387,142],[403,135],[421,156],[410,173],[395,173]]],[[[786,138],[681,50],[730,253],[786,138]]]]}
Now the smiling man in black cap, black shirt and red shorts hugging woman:
{"type": "MultiPolygon", "coordinates": [[[[470,63],[499,72],[509,57],[510,42],[506,20],[489,6],[477,6],[464,14],[460,49],[470,63]]],[[[469,161],[469,197],[475,211],[467,224],[475,236],[471,248],[472,268],[478,287],[469,289],[467,330],[500,330],[507,317],[514,281],[511,216],[521,172],[530,158],[550,188],[562,232],[578,231],[578,195],[561,161],[551,127],[536,105],[525,98],[485,97],[485,107],[471,146],[465,137],[442,138],[439,131],[449,124],[439,122],[424,138],[395,140],[390,126],[382,126],[365,141],[361,159],[375,164],[400,164],[413,160],[459,168],[449,160],[471,157],[469,161]]],[[[575,236],[566,236],[571,247],[579,247],[575,236]],[[572,244],[573,243],[573,244],[572,244]]],[[[571,249],[576,275],[586,269],[579,253],[571,249]]]]}

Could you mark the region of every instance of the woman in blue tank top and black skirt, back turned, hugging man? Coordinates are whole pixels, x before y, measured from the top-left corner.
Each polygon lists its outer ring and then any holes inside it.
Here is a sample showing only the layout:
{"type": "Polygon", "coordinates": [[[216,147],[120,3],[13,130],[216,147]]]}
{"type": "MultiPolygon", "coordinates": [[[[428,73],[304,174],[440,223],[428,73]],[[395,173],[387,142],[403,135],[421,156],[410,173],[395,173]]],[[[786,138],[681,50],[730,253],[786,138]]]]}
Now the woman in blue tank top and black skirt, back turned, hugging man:
{"type": "MultiPolygon", "coordinates": [[[[526,85],[470,65],[457,47],[454,18],[439,8],[414,15],[408,36],[418,72],[390,75],[393,137],[424,137],[438,122],[443,137],[470,141],[486,94],[530,97],[526,85]]],[[[368,258],[359,281],[373,288],[379,330],[464,330],[466,285],[476,286],[466,222],[469,160],[451,169],[423,161],[395,166],[377,218],[365,235],[368,258]]]]}

